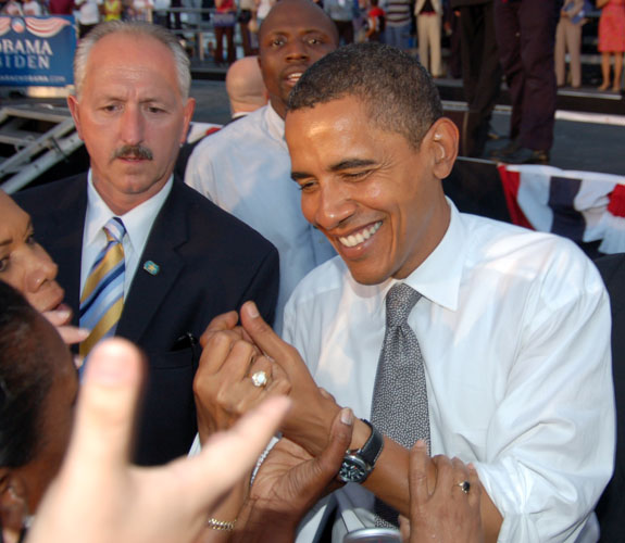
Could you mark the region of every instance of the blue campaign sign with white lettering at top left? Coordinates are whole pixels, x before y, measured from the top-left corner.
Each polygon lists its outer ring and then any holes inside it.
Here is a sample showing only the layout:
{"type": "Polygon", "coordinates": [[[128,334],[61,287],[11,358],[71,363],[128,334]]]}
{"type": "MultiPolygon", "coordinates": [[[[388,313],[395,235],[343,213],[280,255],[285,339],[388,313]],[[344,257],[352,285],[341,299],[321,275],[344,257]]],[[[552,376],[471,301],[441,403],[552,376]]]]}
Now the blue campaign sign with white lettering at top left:
{"type": "Polygon", "coordinates": [[[72,85],[75,50],[72,16],[0,16],[0,85],[72,85]]]}

